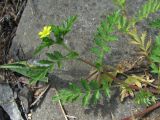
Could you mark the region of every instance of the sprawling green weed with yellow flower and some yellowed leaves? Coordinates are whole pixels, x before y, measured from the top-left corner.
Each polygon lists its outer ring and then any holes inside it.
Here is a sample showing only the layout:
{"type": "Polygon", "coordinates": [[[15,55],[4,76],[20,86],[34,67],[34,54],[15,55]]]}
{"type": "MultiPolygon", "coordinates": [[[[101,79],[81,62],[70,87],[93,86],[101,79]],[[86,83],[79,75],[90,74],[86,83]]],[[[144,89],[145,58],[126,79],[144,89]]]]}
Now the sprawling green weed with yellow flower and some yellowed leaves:
{"type": "MultiPolygon", "coordinates": [[[[126,97],[131,96],[134,98],[135,96],[135,101],[138,104],[149,106],[156,103],[158,99],[154,94],[155,91],[159,93],[159,85],[154,82],[160,78],[160,35],[156,37],[154,45],[152,45],[151,36],[147,37],[147,31],[139,32],[136,25],[148,18],[150,14],[159,11],[160,2],[159,0],[148,0],[132,17],[128,17],[127,15],[125,0],[114,0],[114,2],[118,6],[118,9],[109,14],[101,22],[95,33],[94,45],[91,48],[91,53],[96,55],[94,61],[90,62],[82,59],[78,52],[65,44],[65,35],[72,30],[73,24],[77,19],[77,16],[71,16],[61,25],[45,26],[39,33],[41,44],[34,51],[34,55],[37,55],[51,46],[61,46],[66,50],[65,54],[55,50],[45,53],[47,59],[32,63],[20,61],[1,65],[0,67],[10,69],[28,77],[30,83],[36,83],[38,81],[48,82],[48,73],[52,73],[55,67],[58,66],[61,69],[64,61],[78,60],[94,68],[91,74],[87,79],[81,80],[81,86],[70,83],[68,88],[59,90],[58,95],[53,96],[53,101],[61,100],[63,103],[67,103],[82,99],[84,106],[96,104],[104,95],[110,98],[110,88],[118,86],[121,90],[121,101],[124,101],[126,97]],[[125,70],[104,64],[106,54],[111,51],[109,43],[118,40],[119,36],[116,33],[121,33],[129,37],[131,44],[137,46],[139,50],[137,56],[142,58],[143,61],[147,61],[147,65],[145,66],[147,70],[144,75],[126,74],[125,70]],[[51,38],[51,34],[54,35],[54,38],[51,38]],[[150,68],[153,74],[150,74],[150,68]],[[119,80],[119,74],[125,76],[126,79],[119,80]],[[153,76],[154,74],[159,77],[155,78],[153,76]],[[155,90],[154,92],[153,89],[155,90]]],[[[159,28],[159,24],[160,21],[158,19],[149,23],[155,29],[159,28]]]]}

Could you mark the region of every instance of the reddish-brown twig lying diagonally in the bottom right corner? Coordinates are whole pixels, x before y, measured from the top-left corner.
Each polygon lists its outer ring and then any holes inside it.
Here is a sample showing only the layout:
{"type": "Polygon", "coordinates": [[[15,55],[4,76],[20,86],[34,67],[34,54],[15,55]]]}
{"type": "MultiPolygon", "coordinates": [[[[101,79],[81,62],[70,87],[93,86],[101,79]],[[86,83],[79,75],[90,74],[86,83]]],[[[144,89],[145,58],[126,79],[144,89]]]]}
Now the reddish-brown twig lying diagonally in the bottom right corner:
{"type": "MultiPolygon", "coordinates": [[[[157,109],[157,108],[159,108],[159,107],[160,107],[160,102],[158,102],[158,103],[156,103],[156,104],[154,104],[154,105],[146,108],[145,110],[143,110],[143,111],[141,111],[141,112],[138,112],[138,113],[134,114],[134,117],[135,117],[135,118],[142,118],[142,117],[144,117],[146,114],[148,114],[149,112],[151,112],[151,111],[153,111],[153,110],[155,110],[155,109],[157,109]]],[[[123,119],[121,119],[121,120],[132,120],[132,116],[123,118],[123,119]]]]}

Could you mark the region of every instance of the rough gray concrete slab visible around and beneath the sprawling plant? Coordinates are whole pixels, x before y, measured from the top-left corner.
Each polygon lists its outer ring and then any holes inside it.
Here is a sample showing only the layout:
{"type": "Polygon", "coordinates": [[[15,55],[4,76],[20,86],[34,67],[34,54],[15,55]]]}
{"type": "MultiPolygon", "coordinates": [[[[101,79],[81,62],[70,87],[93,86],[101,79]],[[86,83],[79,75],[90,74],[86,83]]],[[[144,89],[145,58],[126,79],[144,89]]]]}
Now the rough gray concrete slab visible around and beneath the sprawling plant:
{"type": "MultiPolygon", "coordinates": [[[[135,13],[135,9],[146,0],[128,0],[127,8],[129,15],[135,13]]],[[[59,24],[70,15],[78,15],[78,20],[73,31],[66,36],[65,40],[73,49],[83,57],[92,60],[94,57],[89,54],[89,48],[93,41],[93,35],[101,19],[114,9],[111,0],[28,0],[28,4],[22,15],[17,34],[13,40],[11,52],[16,55],[19,46],[23,48],[26,56],[30,56],[40,40],[37,33],[47,24],[59,24]]],[[[142,27],[142,29],[144,29],[142,27]]],[[[123,38],[123,36],[121,37],[123,38]]],[[[116,63],[121,59],[135,58],[134,47],[128,44],[128,39],[123,38],[111,44],[113,51],[110,53],[112,62],[116,63]]],[[[52,48],[51,50],[54,50],[52,48]]],[[[44,55],[40,55],[44,58],[44,55]]],[[[77,81],[84,77],[89,67],[79,62],[67,63],[65,72],[56,73],[51,76],[53,85],[58,88],[64,87],[62,83],[77,81]]],[[[111,120],[111,114],[116,120],[130,115],[136,107],[130,101],[120,103],[117,91],[113,93],[110,102],[104,100],[96,107],[83,108],[76,102],[66,105],[65,109],[69,115],[77,117],[78,120],[111,120]],[[104,104],[104,105],[103,105],[104,104]]],[[[58,104],[51,102],[54,94],[53,88],[47,93],[43,103],[33,112],[33,120],[63,120],[62,112],[58,104]]]]}

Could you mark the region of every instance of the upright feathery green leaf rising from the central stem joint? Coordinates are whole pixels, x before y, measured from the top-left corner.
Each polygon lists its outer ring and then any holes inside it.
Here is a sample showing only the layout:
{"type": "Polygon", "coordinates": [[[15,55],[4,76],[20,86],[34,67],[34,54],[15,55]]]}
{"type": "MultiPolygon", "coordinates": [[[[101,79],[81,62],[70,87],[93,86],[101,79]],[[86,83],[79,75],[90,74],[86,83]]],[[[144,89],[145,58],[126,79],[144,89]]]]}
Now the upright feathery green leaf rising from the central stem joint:
{"type": "Polygon", "coordinates": [[[97,56],[96,63],[102,65],[104,56],[109,52],[109,43],[116,41],[118,38],[114,35],[115,27],[118,24],[120,11],[117,10],[108,15],[97,28],[94,37],[94,47],[91,51],[97,56]]]}

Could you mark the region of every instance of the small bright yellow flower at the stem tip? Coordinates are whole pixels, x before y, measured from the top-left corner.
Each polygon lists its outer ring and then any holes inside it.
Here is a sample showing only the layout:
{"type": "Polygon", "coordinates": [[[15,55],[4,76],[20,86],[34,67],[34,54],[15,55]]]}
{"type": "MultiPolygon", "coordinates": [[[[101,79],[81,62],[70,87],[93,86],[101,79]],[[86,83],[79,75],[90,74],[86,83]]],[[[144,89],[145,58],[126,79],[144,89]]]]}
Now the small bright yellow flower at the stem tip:
{"type": "Polygon", "coordinates": [[[43,30],[38,33],[40,38],[47,37],[51,34],[51,26],[44,26],[43,30]]]}

